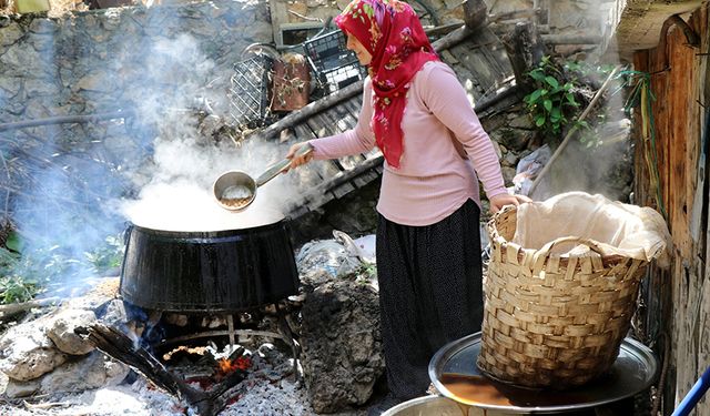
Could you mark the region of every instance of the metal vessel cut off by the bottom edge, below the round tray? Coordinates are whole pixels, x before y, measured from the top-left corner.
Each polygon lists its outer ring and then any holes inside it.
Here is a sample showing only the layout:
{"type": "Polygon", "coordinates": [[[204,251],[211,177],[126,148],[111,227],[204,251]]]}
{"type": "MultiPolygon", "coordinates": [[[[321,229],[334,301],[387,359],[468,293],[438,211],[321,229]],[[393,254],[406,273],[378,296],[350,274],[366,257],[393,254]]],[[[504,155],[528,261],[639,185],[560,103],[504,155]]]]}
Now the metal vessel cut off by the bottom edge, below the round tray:
{"type": "MultiPolygon", "coordinates": [[[[484,410],[467,406],[444,396],[413,398],[382,414],[382,416],[508,416],[511,413],[484,410]]],[[[518,414],[519,415],[519,414],[518,414]]]]}

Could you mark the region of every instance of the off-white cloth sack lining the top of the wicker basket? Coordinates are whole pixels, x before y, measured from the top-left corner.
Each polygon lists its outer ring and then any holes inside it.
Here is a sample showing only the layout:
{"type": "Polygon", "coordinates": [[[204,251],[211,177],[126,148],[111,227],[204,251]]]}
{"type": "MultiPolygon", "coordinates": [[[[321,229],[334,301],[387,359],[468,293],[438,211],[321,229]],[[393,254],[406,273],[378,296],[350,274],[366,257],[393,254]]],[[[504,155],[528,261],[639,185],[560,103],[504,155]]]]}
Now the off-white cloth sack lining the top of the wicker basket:
{"type": "MultiPolygon", "coordinates": [[[[611,201],[604,195],[567,192],[544,202],[518,206],[513,243],[539,250],[560,237],[575,236],[598,243],[602,255],[622,255],[661,267],[670,262],[671,239],[663,217],[653,209],[611,201]]],[[[560,243],[551,252],[580,254],[585,245],[560,243]]]]}

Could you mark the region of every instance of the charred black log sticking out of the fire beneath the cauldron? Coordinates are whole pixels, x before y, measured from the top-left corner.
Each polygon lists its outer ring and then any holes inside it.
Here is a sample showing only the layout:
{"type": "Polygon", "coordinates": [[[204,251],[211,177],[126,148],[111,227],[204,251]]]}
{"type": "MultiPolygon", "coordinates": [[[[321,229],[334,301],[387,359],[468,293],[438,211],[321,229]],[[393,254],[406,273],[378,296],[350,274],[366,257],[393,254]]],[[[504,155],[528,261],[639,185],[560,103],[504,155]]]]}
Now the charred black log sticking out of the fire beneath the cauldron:
{"type": "Polygon", "coordinates": [[[234,397],[244,393],[245,387],[239,386],[239,384],[244,379],[251,361],[248,357],[242,356],[244,352],[242,347],[230,355],[234,359],[227,357],[224,359],[224,364],[220,365],[220,372],[225,365],[229,373],[224,372],[220,383],[210,390],[203,392],[172,374],[145,348],[136,345],[128,335],[113,327],[93,324],[78,327],[74,332],[106,355],[143,374],[158,387],[174,395],[201,416],[219,414],[234,397]],[[235,354],[237,352],[239,354],[235,354]]]}

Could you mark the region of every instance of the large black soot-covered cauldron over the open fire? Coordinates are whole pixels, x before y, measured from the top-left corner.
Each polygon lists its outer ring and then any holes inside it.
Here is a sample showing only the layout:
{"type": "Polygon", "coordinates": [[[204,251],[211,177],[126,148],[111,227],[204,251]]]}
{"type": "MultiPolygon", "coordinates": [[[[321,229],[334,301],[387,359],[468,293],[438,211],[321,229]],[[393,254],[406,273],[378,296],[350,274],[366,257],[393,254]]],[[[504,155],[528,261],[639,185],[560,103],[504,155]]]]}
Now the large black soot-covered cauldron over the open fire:
{"type": "Polygon", "coordinates": [[[121,295],[174,312],[236,312],[296,294],[298,272],[285,220],[244,230],[126,230],[121,295]]]}

